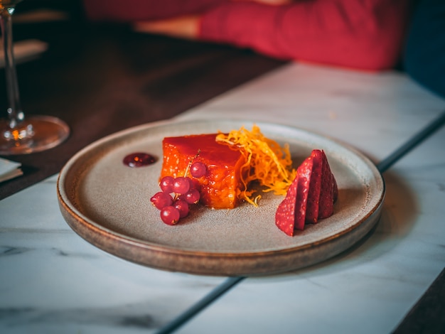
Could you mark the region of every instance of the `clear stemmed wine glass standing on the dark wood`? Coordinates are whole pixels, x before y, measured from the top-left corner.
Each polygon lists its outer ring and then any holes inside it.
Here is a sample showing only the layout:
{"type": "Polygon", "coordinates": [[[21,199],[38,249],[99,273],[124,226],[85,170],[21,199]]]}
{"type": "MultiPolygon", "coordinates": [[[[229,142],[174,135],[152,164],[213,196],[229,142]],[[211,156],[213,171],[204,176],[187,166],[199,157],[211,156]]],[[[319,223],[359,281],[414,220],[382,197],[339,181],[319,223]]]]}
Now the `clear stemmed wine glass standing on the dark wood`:
{"type": "Polygon", "coordinates": [[[0,26],[4,46],[8,117],[0,120],[0,154],[14,155],[43,151],[68,138],[65,122],[50,116],[25,117],[18,94],[12,42],[12,19],[21,0],[0,0],[0,26]]]}

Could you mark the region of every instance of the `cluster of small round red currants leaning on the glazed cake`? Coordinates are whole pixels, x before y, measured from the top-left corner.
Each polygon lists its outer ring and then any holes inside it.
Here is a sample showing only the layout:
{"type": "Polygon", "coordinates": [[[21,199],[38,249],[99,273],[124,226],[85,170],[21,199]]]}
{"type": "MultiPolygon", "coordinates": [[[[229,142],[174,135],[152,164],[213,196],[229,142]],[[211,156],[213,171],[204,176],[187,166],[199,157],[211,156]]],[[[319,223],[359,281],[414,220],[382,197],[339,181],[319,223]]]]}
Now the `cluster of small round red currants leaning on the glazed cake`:
{"type": "Polygon", "coordinates": [[[159,183],[161,191],[150,198],[151,203],[161,210],[161,220],[167,225],[175,225],[181,218],[186,217],[190,211],[189,205],[197,204],[200,200],[200,193],[187,173],[190,169],[193,178],[200,178],[207,173],[207,168],[200,161],[189,166],[185,176],[164,176],[159,183]]]}

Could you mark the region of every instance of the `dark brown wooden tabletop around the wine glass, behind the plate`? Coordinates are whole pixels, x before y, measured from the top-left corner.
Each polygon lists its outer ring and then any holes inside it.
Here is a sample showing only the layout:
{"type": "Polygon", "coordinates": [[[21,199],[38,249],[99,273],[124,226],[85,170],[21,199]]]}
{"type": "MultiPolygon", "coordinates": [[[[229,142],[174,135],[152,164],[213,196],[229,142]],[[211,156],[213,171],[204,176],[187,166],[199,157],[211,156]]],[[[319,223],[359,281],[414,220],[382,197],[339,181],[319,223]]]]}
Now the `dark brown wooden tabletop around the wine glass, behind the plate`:
{"type": "MultiPolygon", "coordinates": [[[[171,118],[283,64],[227,45],[134,33],[121,24],[92,24],[73,4],[68,21],[14,23],[14,41],[37,38],[49,45],[38,60],[17,65],[23,111],[60,117],[71,134],[49,151],[6,157],[23,163],[24,176],[1,183],[0,199],[58,173],[92,141],[171,118]]],[[[16,14],[30,6],[32,0],[23,1],[16,14]]],[[[0,78],[5,117],[4,70],[0,78]]]]}

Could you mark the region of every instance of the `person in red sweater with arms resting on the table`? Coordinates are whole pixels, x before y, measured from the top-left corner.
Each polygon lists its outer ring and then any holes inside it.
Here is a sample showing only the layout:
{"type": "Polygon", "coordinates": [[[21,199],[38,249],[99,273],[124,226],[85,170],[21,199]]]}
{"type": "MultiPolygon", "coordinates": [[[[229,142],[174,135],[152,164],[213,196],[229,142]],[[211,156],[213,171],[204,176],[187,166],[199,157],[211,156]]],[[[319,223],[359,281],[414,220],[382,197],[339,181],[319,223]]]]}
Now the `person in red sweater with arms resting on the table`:
{"type": "Polygon", "coordinates": [[[400,60],[409,16],[408,0],[84,1],[93,21],[370,71],[400,60]]]}

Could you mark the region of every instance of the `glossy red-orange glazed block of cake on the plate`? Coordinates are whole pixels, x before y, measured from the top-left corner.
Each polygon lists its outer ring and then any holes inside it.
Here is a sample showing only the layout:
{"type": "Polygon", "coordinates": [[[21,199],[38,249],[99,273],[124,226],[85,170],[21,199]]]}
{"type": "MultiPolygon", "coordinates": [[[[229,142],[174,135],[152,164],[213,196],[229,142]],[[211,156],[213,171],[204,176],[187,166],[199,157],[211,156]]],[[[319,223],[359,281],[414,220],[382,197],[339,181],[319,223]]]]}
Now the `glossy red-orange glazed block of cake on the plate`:
{"type": "Polygon", "coordinates": [[[192,162],[205,164],[207,172],[200,178],[191,177],[198,183],[200,202],[210,208],[232,209],[238,204],[238,194],[243,185],[240,171],[245,157],[240,151],[232,150],[215,141],[217,134],[198,134],[166,137],[162,141],[164,176],[185,176],[192,162]]]}

